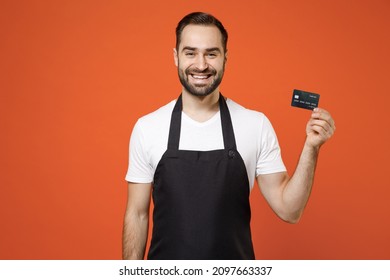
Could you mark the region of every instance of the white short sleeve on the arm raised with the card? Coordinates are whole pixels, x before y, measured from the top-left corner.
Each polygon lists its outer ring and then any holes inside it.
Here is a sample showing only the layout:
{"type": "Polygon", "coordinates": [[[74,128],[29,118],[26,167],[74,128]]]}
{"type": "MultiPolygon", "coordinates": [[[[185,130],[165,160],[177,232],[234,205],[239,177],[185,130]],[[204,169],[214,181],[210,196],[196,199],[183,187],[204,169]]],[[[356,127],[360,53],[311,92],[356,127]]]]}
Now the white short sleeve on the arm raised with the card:
{"type": "Polygon", "coordinates": [[[266,116],[263,118],[260,135],[257,149],[256,177],[260,174],[286,171],[276,133],[266,116]]]}

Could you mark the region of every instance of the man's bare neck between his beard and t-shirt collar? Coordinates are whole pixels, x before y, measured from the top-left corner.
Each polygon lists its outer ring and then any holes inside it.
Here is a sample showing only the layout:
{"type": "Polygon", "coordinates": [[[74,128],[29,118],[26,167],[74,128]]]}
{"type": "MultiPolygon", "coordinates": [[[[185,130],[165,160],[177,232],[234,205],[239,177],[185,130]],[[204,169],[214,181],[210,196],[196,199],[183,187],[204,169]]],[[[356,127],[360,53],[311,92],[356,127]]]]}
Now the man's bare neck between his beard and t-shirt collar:
{"type": "Polygon", "coordinates": [[[207,96],[195,96],[183,89],[183,112],[192,119],[204,122],[219,111],[219,89],[207,96]]]}

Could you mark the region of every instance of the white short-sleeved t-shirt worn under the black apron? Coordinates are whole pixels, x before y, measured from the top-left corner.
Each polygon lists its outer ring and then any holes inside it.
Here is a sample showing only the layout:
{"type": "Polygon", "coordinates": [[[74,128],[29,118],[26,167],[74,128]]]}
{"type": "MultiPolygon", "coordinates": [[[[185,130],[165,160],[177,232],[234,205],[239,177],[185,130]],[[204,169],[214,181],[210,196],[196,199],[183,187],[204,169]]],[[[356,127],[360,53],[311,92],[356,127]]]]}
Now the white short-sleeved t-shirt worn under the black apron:
{"type": "MultiPolygon", "coordinates": [[[[252,189],[255,177],[286,171],[279,143],[267,117],[226,100],[233,123],[237,150],[244,160],[252,189]]],[[[134,126],[129,148],[126,181],[152,183],[156,167],[167,150],[171,114],[176,100],[142,118],[134,126]]],[[[220,113],[197,122],[182,112],[180,150],[210,151],[223,149],[220,113]]]]}

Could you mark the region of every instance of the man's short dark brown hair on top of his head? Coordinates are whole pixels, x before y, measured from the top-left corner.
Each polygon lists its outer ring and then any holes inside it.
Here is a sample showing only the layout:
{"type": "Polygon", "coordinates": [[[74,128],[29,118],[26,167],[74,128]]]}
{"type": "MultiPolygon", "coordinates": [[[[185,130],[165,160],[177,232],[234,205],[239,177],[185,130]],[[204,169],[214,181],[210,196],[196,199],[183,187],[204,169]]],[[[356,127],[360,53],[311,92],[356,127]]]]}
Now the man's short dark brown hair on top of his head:
{"type": "Polygon", "coordinates": [[[183,32],[183,29],[190,24],[216,26],[221,32],[222,45],[224,51],[226,52],[228,34],[225,27],[223,27],[222,23],[213,15],[202,13],[202,12],[195,12],[195,13],[188,14],[184,18],[182,18],[182,20],[178,23],[176,27],[176,50],[179,51],[179,45],[181,42],[181,33],[183,32]]]}

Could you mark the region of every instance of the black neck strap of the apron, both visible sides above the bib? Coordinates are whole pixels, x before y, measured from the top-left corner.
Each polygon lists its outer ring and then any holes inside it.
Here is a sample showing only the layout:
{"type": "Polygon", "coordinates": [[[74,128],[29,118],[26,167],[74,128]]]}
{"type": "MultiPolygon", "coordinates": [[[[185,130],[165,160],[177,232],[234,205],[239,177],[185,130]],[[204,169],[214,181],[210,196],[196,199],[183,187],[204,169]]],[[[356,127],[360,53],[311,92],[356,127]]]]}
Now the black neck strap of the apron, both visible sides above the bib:
{"type": "MultiPolygon", "coordinates": [[[[183,100],[180,94],[172,111],[171,126],[169,128],[168,149],[178,150],[180,142],[181,112],[183,110],[183,100]]],[[[233,124],[225,98],[219,94],[219,110],[221,114],[222,135],[225,149],[236,150],[236,140],[234,137],[233,124]]]]}

